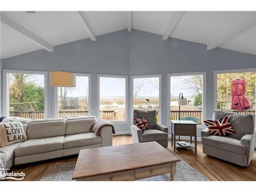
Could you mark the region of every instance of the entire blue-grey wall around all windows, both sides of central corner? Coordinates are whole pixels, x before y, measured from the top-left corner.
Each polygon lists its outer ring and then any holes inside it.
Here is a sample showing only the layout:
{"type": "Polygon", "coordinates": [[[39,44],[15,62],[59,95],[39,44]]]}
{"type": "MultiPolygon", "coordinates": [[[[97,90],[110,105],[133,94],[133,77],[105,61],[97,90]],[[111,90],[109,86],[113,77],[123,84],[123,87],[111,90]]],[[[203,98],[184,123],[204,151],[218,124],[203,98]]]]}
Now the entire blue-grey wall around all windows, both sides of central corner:
{"type": "MultiPolygon", "coordinates": [[[[143,31],[126,30],[83,39],[55,47],[53,53],[39,50],[4,59],[4,69],[92,74],[92,115],[97,115],[97,74],[162,74],[162,123],[167,124],[167,74],[206,71],[206,114],[214,110],[214,70],[256,68],[256,56],[169,38],[143,31]]],[[[129,93],[130,93],[129,78],[129,93]]],[[[130,94],[129,103],[130,103],[130,94]]],[[[48,87],[48,106],[51,88],[48,87]]],[[[130,104],[129,104],[130,112],[130,104]]],[[[50,114],[50,108],[48,110],[50,114]]],[[[129,120],[131,116],[129,114],[129,120]]],[[[129,121],[130,122],[130,121],[129,121]]],[[[130,131],[130,123],[116,124],[117,131],[130,131]]]]}

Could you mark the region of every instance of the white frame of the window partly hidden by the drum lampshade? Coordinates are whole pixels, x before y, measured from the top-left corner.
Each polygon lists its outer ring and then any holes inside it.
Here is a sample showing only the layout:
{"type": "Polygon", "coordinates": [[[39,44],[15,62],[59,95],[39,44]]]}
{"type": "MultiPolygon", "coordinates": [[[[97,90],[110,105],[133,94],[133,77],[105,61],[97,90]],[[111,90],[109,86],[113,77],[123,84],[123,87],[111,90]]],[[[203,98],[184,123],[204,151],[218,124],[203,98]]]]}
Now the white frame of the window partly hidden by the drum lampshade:
{"type": "MultiPolygon", "coordinates": [[[[91,83],[91,74],[87,74],[87,73],[74,73],[76,76],[83,76],[83,77],[88,77],[88,115],[92,114],[92,83],[91,83]]],[[[58,87],[53,87],[54,89],[54,117],[57,118],[58,117],[58,87]]]]}

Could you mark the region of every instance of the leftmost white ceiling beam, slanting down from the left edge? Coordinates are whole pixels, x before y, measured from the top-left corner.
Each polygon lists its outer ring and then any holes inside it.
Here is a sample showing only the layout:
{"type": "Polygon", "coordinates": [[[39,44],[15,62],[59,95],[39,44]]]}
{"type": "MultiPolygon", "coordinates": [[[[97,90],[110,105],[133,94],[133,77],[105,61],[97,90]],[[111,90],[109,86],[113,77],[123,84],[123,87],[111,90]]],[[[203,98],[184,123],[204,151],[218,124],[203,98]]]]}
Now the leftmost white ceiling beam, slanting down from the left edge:
{"type": "Polygon", "coordinates": [[[1,22],[8,25],[9,27],[13,28],[14,30],[18,31],[19,33],[22,33],[25,35],[30,41],[32,41],[34,44],[38,45],[42,49],[45,49],[47,51],[53,52],[54,47],[49,44],[49,42],[45,41],[41,37],[37,36],[36,34],[32,33],[25,27],[19,25],[14,20],[6,16],[5,14],[1,13],[1,22]]]}

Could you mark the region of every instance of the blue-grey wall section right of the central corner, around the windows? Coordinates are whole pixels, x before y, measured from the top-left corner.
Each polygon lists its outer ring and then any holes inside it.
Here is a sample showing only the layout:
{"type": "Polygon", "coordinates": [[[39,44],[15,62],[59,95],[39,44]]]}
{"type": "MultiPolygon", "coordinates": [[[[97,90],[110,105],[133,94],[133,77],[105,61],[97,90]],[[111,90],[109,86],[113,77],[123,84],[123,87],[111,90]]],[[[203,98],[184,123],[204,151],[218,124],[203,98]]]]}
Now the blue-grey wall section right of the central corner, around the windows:
{"type": "MultiPolygon", "coordinates": [[[[130,75],[162,74],[162,123],[167,124],[168,73],[206,72],[206,117],[214,111],[214,71],[256,68],[256,56],[133,30],[130,33],[130,75]]],[[[200,132],[200,130],[198,130],[200,132]]],[[[198,135],[200,135],[198,133],[198,135]]]]}

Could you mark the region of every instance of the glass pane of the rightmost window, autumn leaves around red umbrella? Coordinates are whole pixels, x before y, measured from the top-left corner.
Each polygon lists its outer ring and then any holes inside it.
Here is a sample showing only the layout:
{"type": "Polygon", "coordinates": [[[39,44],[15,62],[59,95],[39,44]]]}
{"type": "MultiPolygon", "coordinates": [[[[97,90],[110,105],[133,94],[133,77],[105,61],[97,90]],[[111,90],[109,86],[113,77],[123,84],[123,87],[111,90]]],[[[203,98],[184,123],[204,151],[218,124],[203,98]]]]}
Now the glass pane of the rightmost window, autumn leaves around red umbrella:
{"type": "Polygon", "coordinates": [[[255,114],[255,72],[217,74],[217,110],[231,113],[255,114]],[[231,109],[231,81],[245,79],[245,96],[250,103],[250,108],[243,112],[231,109]]]}

